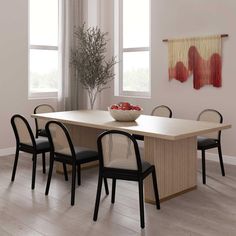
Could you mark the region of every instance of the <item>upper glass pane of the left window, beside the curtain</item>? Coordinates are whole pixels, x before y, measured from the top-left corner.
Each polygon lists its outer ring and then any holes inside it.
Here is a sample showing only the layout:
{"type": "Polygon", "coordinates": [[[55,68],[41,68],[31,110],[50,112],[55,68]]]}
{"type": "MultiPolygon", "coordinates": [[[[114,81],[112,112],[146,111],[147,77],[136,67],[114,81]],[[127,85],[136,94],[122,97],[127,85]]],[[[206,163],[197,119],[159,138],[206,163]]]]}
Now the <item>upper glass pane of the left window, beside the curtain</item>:
{"type": "Polygon", "coordinates": [[[58,0],[30,0],[30,44],[58,45],[58,0]]]}

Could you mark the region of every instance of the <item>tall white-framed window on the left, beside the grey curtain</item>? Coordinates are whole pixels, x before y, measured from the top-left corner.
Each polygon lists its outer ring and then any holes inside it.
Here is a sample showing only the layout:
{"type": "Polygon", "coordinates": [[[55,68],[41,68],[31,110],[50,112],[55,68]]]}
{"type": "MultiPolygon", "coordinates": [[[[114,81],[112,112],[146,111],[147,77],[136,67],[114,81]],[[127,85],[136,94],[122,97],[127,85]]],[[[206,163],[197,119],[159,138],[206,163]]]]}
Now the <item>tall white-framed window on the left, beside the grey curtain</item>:
{"type": "Polygon", "coordinates": [[[29,97],[56,97],[59,0],[29,0],[29,97]]]}

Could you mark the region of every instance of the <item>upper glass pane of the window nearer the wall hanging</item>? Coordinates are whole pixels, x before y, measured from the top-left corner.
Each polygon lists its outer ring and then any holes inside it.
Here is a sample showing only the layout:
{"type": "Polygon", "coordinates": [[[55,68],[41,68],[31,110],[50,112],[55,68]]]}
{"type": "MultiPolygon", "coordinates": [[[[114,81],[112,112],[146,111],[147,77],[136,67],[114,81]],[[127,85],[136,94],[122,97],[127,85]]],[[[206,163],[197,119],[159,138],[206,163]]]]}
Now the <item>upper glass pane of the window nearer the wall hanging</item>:
{"type": "Polygon", "coordinates": [[[149,47],[149,0],[123,0],[123,47],[149,47]]]}

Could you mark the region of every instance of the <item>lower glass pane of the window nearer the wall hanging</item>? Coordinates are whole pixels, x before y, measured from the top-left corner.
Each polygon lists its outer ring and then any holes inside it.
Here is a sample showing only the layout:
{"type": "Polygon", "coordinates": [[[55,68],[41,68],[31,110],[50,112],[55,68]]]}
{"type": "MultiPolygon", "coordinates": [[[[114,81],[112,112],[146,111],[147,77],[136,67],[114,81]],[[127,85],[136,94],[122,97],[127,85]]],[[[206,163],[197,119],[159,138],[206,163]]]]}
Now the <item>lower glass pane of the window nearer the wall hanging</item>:
{"type": "Polygon", "coordinates": [[[149,52],[123,53],[123,91],[149,92],[149,52]]]}

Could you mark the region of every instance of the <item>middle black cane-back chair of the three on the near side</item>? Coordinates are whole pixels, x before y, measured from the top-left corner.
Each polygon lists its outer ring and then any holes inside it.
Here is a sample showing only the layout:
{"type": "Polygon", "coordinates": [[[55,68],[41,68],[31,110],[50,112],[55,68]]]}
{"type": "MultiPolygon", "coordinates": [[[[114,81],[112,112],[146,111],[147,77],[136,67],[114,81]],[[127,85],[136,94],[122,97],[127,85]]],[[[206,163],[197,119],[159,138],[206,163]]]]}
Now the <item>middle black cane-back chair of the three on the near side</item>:
{"type": "MultiPolygon", "coordinates": [[[[49,121],[46,124],[46,132],[48,134],[51,151],[50,151],[50,167],[49,167],[45,195],[48,195],[49,193],[54,161],[63,163],[64,173],[67,173],[66,164],[71,165],[72,166],[71,205],[74,205],[76,172],[77,172],[78,185],[80,185],[81,165],[84,163],[98,160],[98,153],[97,151],[85,147],[74,146],[67,128],[58,121],[49,121]]],[[[104,184],[105,184],[106,194],[108,195],[109,189],[106,179],[104,179],[104,184]]]]}

